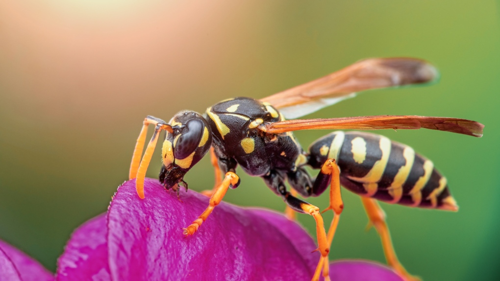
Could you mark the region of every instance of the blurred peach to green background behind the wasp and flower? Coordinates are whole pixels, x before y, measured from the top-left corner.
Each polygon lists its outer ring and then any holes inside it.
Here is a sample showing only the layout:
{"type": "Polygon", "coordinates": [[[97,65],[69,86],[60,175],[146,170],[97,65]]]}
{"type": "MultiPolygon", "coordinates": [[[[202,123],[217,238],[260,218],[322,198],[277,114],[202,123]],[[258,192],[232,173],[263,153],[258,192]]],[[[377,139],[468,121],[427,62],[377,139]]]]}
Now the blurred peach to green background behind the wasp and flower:
{"type": "MultiPolygon", "coordinates": [[[[382,204],[397,254],[431,280],[500,273],[500,28],[491,0],[0,0],[0,238],[51,271],[72,230],[102,213],[146,115],[169,120],[233,96],[264,97],[379,56],[425,58],[437,84],[363,93],[308,117],[460,117],[481,139],[378,131],[432,159],[458,213],[382,204]]],[[[326,131],[296,133],[304,147],[326,131]]],[[[147,172],[156,178],[160,154],[147,172]]],[[[212,186],[208,157],[186,176],[212,186]]],[[[331,259],[384,262],[357,196],[331,259]]],[[[224,201],[283,210],[259,178],[224,201]]],[[[310,202],[324,208],[327,196],[310,202]]],[[[326,221],[331,215],[326,215],[326,221]]],[[[299,221],[314,233],[313,220],[299,221]]]]}

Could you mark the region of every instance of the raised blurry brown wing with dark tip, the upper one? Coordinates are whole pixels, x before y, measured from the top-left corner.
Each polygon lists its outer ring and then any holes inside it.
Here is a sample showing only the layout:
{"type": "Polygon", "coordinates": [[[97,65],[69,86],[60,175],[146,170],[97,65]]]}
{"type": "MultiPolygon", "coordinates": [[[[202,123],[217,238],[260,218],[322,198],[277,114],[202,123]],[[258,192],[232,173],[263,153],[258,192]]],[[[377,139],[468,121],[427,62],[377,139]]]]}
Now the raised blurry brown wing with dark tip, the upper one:
{"type": "Polygon", "coordinates": [[[286,118],[292,119],[354,97],[355,92],[426,83],[437,76],[437,70],[425,60],[370,58],[260,101],[270,103],[286,118]]]}

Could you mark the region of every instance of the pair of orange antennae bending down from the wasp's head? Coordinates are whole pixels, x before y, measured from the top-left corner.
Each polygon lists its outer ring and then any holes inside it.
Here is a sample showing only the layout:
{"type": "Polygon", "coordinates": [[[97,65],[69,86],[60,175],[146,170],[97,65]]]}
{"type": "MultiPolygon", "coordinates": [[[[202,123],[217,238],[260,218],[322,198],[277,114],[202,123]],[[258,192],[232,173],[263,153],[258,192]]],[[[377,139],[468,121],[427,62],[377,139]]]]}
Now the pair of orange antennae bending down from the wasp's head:
{"type": "Polygon", "coordinates": [[[135,143],[132,162],[130,163],[130,170],[128,172],[128,178],[129,179],[136,178],[135,188],[137,190],[137,195],[139,196],[140,199],[144,199],[144,177],[146,175],[147,166],[149,166],[149,162],[151,161],[151,156],[154,151],[154,147],[156,146],[156,142],[158,141],[159,132],[161,130],[165,130],[171,133],[172,127],[166,124],[161,119],[147,116],[144,119],[142,129],[140,130],[139,137],[137,138],[137,142],[135,143]],[[146,133],[147,133],[147,125],[149,124],[154,124],[156,126],[154,128],[153,136],[149,141],[149,143],[147,144],[146,151],[144,152],[144,156],[142,157],[141,161],[140,155],[142,154],[142,149],[144,148],[144,142],[146,140],[146,133]]]}

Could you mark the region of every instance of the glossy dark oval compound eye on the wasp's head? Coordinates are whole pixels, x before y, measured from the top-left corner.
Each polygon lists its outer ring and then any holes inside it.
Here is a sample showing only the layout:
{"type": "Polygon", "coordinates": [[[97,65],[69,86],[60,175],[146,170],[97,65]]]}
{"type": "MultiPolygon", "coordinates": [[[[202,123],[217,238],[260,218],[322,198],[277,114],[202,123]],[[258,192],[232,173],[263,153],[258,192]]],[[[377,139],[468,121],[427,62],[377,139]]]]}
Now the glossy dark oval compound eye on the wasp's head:
{"type": "Polygon", "coordinates": [[[198,146],[203,134],[203,123],[198,119],[187,121],[173,150],[175,159],[184,159],[198,146]]]}

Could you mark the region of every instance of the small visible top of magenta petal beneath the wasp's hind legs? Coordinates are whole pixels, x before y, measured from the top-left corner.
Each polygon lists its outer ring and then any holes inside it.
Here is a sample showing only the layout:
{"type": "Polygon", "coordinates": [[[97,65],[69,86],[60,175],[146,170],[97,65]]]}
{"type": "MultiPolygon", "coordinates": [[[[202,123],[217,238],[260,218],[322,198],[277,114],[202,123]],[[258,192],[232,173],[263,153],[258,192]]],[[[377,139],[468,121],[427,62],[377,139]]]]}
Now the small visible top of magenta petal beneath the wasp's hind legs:
{"type": "Polygon", "coordinates": [[[362,260],[333,262],[329,275],[335,281],[403,281],[386,266],[362,260]]]}

